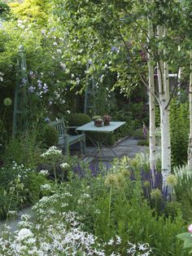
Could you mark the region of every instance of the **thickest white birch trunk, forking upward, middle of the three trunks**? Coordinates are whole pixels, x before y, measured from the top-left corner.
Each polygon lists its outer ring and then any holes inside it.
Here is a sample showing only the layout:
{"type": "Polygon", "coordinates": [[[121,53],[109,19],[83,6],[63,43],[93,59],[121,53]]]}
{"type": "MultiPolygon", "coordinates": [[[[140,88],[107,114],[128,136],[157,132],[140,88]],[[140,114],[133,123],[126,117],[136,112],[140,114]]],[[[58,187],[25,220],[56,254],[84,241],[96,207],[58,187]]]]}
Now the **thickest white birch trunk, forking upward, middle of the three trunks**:
{"type": "MultiPolygon", "coordinates": [[[[158,38],[163,38],[166,31],[163,27],[158,27],[158,38]]],[[[161,169],[163,176],[163,192],[167,192],[170,196],[170,189],[167,184],[167,177],[171,173],[171,139],[169,129],[169,78],[168,64],[163,60],[159,60],[157,66],[158,83],[159,83],[159,108],[161,120],[161,169]]]]}

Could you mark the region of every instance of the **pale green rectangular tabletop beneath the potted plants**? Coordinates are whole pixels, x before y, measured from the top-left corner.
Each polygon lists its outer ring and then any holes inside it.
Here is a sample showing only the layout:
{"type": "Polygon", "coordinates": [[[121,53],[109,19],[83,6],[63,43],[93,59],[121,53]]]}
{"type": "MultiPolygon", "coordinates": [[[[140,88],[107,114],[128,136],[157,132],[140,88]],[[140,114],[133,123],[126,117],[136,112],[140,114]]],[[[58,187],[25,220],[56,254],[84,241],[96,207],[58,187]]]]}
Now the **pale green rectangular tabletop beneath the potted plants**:
{"type": "Polygon", "coordinates": [[[111,131],[116,130],[120,126],[123,126],[124,124],[125,124],[125,121],[110,121],[109,126],[97,127],[97,126],[94,126],[94,121],[90,121],[89,123],[85,124],[84,126],[80,126],[80,127],[76,128],[76,130],[111,132],[111,131]]]}

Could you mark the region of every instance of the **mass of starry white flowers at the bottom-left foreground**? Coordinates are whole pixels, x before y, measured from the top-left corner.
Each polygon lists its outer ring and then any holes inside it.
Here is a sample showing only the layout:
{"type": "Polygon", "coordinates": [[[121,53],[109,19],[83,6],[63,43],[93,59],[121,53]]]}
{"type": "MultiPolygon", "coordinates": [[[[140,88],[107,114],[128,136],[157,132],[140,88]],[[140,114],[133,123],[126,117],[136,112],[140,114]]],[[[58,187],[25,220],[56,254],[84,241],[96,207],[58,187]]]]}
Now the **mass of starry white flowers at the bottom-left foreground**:
{"type": "MultiPolygon", "coordinates": [[[[24,214],[19,223],[19,229],[11,236],[9,227],[5,226],[0,239],[0,254],[2,255],[120,255],[118,246],[122,243],[120,236],[111,237],[106,243],[96,236],[84,231],[81,216],[72,211],[56,212],[50,206],[49,211],[45,205],[53,205],[59,196],[43,197],[33,210],[37,214],[35,223],[30,216],[24,214]],[[107,247],[112,250],[107,254],[107,247]]],[[[151,255],[148,244],[134,245],[127,242],[127,254],[151,255]]]]}

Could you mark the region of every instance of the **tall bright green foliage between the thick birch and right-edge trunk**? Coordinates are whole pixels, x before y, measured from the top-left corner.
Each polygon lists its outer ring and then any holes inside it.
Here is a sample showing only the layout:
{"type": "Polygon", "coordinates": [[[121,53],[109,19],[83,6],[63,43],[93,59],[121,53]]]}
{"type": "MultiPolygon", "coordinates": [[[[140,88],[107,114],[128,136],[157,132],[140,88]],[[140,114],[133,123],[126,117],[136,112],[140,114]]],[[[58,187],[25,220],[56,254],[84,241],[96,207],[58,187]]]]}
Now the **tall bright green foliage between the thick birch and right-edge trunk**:
{"type": "Polygon", "coordinates": [[[189,104],[172,99],[170,105],[172,166],[182,166],[187,161],[189,130],[189,104]]]}

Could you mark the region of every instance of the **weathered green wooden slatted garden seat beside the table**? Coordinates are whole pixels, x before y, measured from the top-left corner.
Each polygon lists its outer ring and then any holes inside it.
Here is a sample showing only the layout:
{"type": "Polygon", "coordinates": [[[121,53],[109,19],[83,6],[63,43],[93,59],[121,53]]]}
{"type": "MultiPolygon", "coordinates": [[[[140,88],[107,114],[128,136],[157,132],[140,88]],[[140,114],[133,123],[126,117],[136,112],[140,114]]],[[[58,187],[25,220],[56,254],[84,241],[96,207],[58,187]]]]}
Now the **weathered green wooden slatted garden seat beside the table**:
{"type": "Polygon", "coordinates": [[[50,126],[54,127],[59,133],[59,147],[64,149],[65,154],[69,153],[69,147],[75,143],[80,143],[81,154],[85,154],[85,134],[68,135],[67,128],[76,128],[75,126],[66,127],[63,118],[58,121],[51,121],[50,126]]]}

